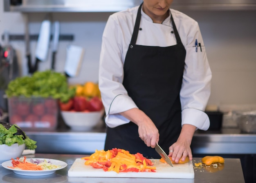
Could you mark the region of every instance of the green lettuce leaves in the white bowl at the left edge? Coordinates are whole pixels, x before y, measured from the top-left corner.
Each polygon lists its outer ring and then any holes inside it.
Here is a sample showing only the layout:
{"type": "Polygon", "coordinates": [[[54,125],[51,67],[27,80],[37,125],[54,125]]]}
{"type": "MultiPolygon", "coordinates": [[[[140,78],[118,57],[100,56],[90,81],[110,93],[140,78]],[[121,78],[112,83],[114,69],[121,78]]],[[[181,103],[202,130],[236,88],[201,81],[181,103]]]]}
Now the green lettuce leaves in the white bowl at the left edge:
{"type": "Polygon", "coordinates": [[[27,149],[36,149],[36,141],[33,141],[25,134],[25,139],[23,135],[16,135],[17,128],[16,125],[12,125],[9,129],[6,129],[2,124],[0,124],[0,145],[5,144],[8,146],[18,143],[22,145],[25,143],[27,149]]]}

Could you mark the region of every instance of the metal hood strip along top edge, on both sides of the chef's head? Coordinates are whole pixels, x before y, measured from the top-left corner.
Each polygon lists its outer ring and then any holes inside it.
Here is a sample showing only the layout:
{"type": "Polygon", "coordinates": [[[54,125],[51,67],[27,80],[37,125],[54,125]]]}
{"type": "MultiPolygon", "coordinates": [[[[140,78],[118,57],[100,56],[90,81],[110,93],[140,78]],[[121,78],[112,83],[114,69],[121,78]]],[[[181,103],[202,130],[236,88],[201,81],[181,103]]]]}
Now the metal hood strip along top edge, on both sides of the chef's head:
{"type": "MultiPolygon", "coordinates": [[[[13,5],[4,0],[4,11],[20,12],[116,12],[143,0],[22,0],[13,5]]],[[[256,0],[173,0],[177,10],[256,10],[256,0]]]]}

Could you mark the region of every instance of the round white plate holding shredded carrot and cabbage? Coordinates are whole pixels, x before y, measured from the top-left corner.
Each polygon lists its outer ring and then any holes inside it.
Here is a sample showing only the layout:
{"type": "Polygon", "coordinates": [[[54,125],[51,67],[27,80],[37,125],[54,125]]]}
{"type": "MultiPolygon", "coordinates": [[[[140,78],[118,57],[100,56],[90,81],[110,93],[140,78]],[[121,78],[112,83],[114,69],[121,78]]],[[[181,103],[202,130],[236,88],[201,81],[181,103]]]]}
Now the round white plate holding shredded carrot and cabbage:
{"type": "MultiPolygon", "coordinates": [[[[33,159],[33,158],[32,158],[33,159]]],[[[47,158],[34,158],[34,160],[39,159],[39,160],[46,160],[50,161],[53,165],[58,165],[61,166],[59,168],[53,169],[53,170],[17,170],[17,169],[12,169],[9,167],[12,167],[12,160],[5,161],[2,163],[2,167],[12,170],[14,173],[19,174],[19,175],[27,175],[27,176],[41,176],[41,175],[50,175],[54,174],[56,170],[61,170],[67,166],[67,163],[55,159],[47,159],[47,158]]],[[[29,161],[30,158],[27,158],[27,161],[29,161]]]]}

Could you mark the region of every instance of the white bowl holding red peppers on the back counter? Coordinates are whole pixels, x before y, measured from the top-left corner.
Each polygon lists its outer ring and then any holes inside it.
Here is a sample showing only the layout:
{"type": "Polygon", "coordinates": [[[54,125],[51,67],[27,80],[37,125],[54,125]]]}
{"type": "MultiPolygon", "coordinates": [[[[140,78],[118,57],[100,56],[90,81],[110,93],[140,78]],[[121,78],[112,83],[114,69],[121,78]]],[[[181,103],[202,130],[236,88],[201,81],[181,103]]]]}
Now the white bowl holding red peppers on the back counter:
{"type": "Polygon", "coordinates": [[[99,125],[104,110],[95,112],[61,111],[62,118],[67,126],[73,130],[89,130],[99,125]]]}

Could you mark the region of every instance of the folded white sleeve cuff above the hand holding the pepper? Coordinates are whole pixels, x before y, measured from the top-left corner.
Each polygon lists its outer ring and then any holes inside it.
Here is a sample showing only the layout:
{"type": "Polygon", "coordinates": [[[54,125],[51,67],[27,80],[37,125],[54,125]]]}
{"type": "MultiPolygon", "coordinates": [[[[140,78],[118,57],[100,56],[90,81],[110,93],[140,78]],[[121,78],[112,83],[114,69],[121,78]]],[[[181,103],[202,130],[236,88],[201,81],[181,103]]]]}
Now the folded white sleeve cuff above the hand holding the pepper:
{"type": "Polygon", "coordinates": [[[184,124],[194,125],[198,129],[207,130],[210,127],[208,115],[198,109],[183,109],[182,110],[182,126],[184,124]]]}

